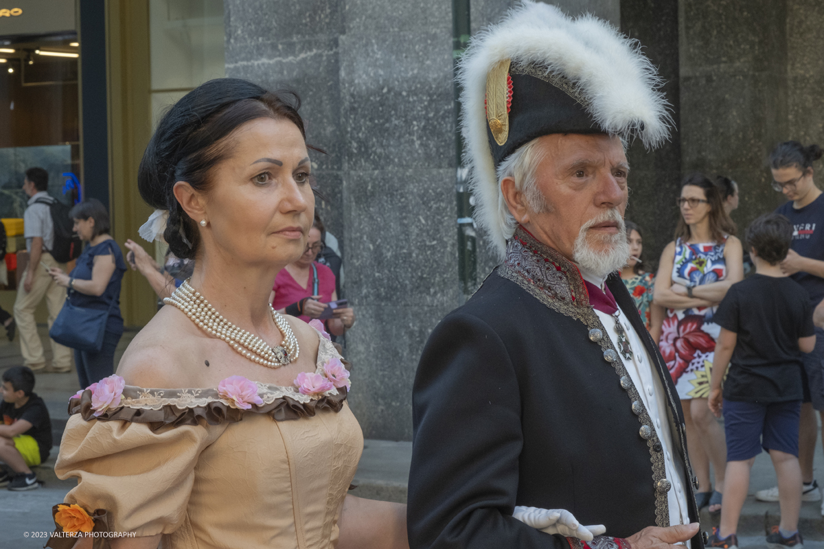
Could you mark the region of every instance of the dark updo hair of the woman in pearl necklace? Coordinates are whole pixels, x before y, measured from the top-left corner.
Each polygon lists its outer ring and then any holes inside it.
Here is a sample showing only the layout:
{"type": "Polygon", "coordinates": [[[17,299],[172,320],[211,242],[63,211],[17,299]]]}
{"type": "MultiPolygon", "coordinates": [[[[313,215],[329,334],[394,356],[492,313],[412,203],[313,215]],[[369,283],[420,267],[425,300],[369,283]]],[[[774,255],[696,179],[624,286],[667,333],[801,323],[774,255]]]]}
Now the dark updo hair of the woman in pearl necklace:
{"type": "MultiPolygon", "coordinates": [[[[209,171],[232,151],[224,137],[255,119],[287,119],[306,139],[301,100],[292,91],[266,91],[240,78],[218,78],[194,88],[157,124],[138,169],[138,189],[152,207],[168,210],[163,238],[178,258],[194,259],[199,244],[197,223],[180,207],[172,192],[185,181],[208,191],[209,171]]],[[[312,147],[309,147],[312,148],[312,147]]]]}

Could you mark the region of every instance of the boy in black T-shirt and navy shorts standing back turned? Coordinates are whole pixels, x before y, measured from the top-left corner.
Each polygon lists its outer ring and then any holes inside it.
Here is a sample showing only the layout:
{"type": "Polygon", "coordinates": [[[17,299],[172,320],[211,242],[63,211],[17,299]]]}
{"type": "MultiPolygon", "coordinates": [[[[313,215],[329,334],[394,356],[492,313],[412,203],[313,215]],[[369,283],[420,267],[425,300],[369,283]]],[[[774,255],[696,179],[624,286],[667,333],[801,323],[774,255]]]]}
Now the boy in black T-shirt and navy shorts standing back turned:
{"type": "Polygon", "coordinates": [[[713,317],[721,333],[715,346],[709,408],[718,417],[723,408],[727,472],[721,524],[714,528],[709,547],[737,546],[738,517],[761,448],[770,453],[775,466],[781,506],[780,527],[767,536],[767,546],[803,547],[798,533],[801,369],[802,353],[812,351],[816,336],[807,292],[780,267],[792,235],[787,218],[775,213],[752,222],[747,244],[756,274],[733,284],[713,317]]]}

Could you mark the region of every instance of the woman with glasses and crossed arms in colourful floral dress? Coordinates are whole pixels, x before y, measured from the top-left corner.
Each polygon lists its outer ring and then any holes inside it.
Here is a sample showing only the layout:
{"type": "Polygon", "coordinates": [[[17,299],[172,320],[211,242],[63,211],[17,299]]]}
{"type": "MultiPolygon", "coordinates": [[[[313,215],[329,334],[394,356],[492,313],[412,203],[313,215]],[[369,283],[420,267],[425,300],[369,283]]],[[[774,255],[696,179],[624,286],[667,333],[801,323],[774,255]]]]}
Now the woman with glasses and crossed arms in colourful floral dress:
{"type": "Polygon", "coordinates": [[[691,174],[677,199],[681,210],[676,239],[664,249],[655,281],[654,303],[667,307],[658,347],[684,407],[690,460],[698,477],[699,508],[721,510],[726,446],[723,430],[707,405],[709,376],[720,328],[713,314],[729,286],[743,278],[742,245],[723,207],[719,188],[703,174],[691,174]],[[709,462],[715,472],[710,488],[709,462]]]}

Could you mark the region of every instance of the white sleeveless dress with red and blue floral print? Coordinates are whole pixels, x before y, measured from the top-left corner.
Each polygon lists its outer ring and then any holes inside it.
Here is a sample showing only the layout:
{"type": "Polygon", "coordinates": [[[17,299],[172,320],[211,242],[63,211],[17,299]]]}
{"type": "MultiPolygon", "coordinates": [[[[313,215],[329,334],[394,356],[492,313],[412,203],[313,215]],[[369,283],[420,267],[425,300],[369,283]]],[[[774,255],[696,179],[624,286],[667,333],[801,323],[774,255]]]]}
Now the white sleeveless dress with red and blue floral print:
{"type": "MultiPolygon", "coordinates": [[[[695,287],[726,278],[724,244],[686,244],[678,239],[672,283],[695,287]]],[[[716,309],[717,306],[667,309],[658,347],[681,400],[709,397],[715,341],[721,332],[713,322],[716,309]]]]}

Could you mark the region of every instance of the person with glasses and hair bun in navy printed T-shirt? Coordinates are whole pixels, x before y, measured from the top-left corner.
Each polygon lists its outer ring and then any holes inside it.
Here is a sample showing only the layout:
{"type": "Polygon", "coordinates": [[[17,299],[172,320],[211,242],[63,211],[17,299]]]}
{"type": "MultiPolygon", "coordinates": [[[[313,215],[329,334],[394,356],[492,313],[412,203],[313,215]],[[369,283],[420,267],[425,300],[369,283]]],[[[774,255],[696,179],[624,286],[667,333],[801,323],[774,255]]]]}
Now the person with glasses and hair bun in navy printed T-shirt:
{"type": "MultiPolygon", "coordinates": [[[[781,270],[803,286],[810,295],[813,309],[824,303],[824,198],[813,181],[812,168],[813,162],[821,157],[822,148],[815,144],[804,147],[797,141],[786,141],[775,146],[769,161],[772,188],[787,198],[775,213],[793,224],[793,240],[787,258],[781,262],[781,270]]],[[[812,477],[812,458],[818,436],[815,410],[824,411],[824,329],[817,327],[816,336],[815,349],[803,355],[804,403],[798,432],[798,463],[804,482],[804,501],[822,498],[812,477]]],[[[778,487],[758,491],[756,498],[778,501],[778,487]]]]}

